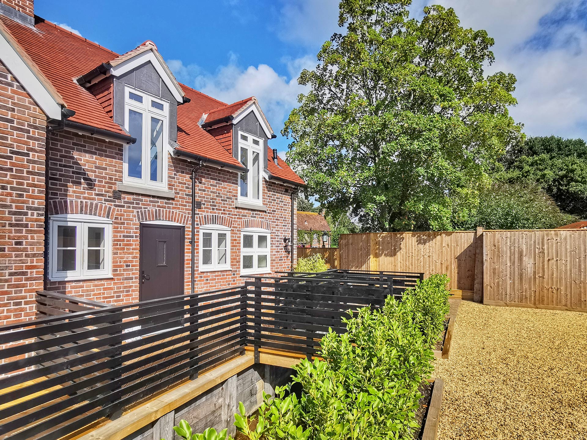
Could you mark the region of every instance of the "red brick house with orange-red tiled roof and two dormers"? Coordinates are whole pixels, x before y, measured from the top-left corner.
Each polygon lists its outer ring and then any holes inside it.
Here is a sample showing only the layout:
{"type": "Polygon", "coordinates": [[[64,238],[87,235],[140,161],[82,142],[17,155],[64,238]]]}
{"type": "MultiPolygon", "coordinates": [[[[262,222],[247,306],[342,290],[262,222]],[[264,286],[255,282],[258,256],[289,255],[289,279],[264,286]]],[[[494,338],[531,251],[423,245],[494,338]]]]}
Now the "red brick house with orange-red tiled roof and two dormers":
{"type": "Polygon", "coordinates": [[[273,137],[153,42],[119,55],[0,0],[0,321],[41,289],[123,303],[288,270],[304,182],[273,137]]]}

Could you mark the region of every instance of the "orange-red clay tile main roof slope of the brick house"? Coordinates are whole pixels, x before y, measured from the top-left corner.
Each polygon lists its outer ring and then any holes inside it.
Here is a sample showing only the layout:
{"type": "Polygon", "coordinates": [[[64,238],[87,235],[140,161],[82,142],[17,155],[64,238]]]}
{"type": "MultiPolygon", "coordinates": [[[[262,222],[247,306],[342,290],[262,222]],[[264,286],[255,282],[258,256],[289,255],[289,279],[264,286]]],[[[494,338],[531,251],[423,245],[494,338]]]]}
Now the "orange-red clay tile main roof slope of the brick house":
{"type": "MultiPolygon", "coordinates": [[[[75,110],[76,114],[69,118],[70,121],[113,133],[127,134],[107,114],[97,97],[77,84],[76,79],[102,63],[120,63],[131,53],[135,55],[137,51],[145,50],[144,46],[154,46],[154,43],[147,40],[138,48],[119,55],[39,17],[35,18],[36,30],[4,16],[0,16],[0,20],[63,97],[68,109],[75,110]]],[[[208,117],[210,114],[236,114],[254,98],[249,97],[237,103],[227,104],[183,84],[180,84],[180,87],[185,96],[191,99],[190,103],[177,107],[177,141],[180,150],[240,167],[241,164],[214,136],[201,128],[198,121],[204,113],[208,113],[208,117]]],[[[269,157],[271,158],[271,153],[269,157]]],[[[268,169],[272,175],[298,184],[304,183],[281,158],[278,159],[278,163],[279,167],[269,160],[268,169]]]]}

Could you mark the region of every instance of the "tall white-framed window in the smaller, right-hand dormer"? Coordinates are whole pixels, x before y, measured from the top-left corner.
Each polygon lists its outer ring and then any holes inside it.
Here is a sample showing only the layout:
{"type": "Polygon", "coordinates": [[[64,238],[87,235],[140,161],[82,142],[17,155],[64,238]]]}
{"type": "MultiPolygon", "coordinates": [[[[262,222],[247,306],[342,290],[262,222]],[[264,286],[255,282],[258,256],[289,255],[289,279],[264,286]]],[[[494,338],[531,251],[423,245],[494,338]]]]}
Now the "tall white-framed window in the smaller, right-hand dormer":
{"type": "Polygon", "coordinates": [[[239,131],[238,160],[249,170],[239,174],[238,199],[262,205],[263,140],[244,131],[239,131]]]}

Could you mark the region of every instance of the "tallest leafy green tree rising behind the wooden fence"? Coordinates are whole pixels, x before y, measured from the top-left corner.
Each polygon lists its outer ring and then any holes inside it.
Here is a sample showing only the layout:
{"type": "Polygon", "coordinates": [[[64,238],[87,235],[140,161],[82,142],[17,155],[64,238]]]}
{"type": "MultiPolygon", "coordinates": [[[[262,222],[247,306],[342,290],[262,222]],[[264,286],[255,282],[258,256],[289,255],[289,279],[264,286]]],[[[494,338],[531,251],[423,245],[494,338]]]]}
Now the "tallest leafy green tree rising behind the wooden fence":
{"type": "Polygon", "coordinates": [[[449,229],[455,207],[475,204],[474,188],[522,136],[507,110],[515,77],[484,75],[494,40],[442,6],[410,19],[410,2],[340,2],[346,32],[301,73],[309,92],[282,131],[309,191],[366,230],[449,229]]]}

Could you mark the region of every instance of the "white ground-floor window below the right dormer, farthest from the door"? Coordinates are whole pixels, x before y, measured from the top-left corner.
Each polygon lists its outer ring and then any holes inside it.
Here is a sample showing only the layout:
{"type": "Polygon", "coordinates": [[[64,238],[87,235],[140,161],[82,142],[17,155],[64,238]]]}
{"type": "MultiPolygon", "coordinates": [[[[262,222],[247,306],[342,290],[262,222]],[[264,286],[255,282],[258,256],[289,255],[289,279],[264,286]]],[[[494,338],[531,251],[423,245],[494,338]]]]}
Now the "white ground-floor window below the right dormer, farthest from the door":
{"type": "Polygon", "coordinates": [[[271,272],[271,232],[243,229],[241,233],[241,273],[271,272]]]}

